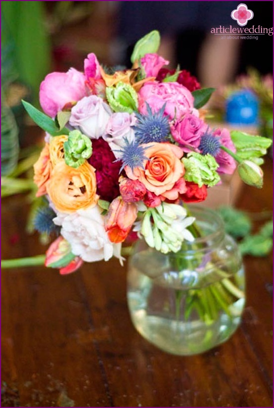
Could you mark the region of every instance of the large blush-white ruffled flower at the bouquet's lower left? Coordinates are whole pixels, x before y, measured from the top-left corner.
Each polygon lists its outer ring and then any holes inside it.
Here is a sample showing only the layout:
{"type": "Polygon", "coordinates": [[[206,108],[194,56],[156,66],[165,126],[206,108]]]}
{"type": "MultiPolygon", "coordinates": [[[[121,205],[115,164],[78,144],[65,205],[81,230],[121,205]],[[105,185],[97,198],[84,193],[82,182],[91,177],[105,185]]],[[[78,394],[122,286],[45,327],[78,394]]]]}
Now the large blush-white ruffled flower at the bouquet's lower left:
{"type": "Polygon", "coordinates": [[[97,205],[72,214],[57,212],[53,222],[61,226],[61,235],[70,243],[72,253],[84,261],[108,261],[115,256],[122,262],[121,244],[109,241],[104,228],[104,217],[97,205]]]}

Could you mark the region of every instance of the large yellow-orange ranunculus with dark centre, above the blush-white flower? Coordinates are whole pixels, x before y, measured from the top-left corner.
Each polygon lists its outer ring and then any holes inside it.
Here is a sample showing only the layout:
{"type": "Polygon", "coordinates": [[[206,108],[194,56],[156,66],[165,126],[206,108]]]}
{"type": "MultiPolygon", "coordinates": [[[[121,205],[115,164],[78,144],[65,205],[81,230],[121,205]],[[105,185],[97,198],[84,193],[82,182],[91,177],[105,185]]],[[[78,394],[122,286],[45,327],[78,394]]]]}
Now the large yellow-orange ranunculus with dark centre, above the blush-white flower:
{"type": "Polygon", "coordinates": [[[62,160],[53,167],[46,191],[61,212],[70,213],[94,206],[99,199],[95,169],[88,162],[73,168],[62,160]]]}

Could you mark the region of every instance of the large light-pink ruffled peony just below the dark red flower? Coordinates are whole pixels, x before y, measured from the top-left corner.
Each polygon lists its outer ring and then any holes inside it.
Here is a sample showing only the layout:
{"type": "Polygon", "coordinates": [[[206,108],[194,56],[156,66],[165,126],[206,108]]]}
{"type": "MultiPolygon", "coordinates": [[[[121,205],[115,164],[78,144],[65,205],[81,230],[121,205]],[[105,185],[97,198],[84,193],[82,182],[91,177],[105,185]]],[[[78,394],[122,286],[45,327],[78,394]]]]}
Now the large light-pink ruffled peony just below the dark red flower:
{"type": "Polygon", "coordinates": [[[181,119],[193,110],[194,98],[183,85],[177,82],[146,82],[138,94],[139,112],[147,114],[146,103],[152,112],[158,112],[164,104],[164,115],[171,120],[181,119]]]}

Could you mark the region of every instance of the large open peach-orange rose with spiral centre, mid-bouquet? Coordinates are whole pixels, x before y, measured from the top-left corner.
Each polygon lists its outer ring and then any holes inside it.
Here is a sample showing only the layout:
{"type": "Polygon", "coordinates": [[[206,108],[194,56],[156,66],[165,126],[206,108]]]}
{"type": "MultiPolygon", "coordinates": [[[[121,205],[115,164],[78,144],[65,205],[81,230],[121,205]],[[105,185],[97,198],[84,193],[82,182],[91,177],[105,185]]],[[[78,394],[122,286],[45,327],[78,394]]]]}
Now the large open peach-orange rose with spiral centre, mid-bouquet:
{"type": "Polygon", "coordinates": [[[181,162],[183,151],[180,147],[170,143],[146,143],[143,167],[136,167],[133,171],[129,166],[125,167],[127,176],[132,180],[139,180],[145,188],[169,200],[176,200],[182,190],[182,183],[177,183],[184,174],[184,166],[181,162]],[[174,191],[180,185],[178,191],[174,191]],[[172,198],[169,192],[172,191],[172,198]]]}

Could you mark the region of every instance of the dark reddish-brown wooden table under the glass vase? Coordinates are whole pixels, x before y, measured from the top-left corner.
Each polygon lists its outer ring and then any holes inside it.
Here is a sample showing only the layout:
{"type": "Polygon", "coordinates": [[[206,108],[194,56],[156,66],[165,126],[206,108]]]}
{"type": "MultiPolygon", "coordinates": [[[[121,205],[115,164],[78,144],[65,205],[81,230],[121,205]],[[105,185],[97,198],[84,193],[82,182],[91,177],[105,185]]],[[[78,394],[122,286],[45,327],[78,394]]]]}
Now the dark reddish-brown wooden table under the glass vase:
{"type": "MultiPolygon", "coordinates": [[[[262,190],[237,207],[272,209],[272,162],[262,190]]],[[[2,258],[45,252],[24,232],[24,197],[2,201],[2,258]]],[[[2,407],[271,407],[272,257],[245,258],[247,305],[225,344],[193,357],[166,354],[133,327],[126,265],[2,271],[2,407]],[[4,383],[3,383],[4,382],[4,383]]]]}

